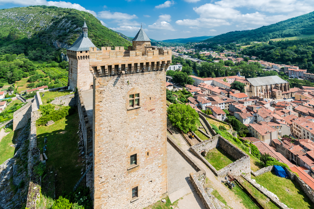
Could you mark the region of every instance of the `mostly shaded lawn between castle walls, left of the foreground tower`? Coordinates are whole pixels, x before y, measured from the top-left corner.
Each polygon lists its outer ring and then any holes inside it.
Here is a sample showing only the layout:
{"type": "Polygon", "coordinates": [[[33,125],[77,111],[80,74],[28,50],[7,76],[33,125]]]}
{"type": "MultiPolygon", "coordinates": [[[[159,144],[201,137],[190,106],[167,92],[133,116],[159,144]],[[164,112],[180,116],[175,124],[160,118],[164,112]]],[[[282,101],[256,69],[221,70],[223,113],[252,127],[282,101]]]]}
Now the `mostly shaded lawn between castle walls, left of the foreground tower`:
{"type": "Polygon", "coordinates": [[[62,191],[70,192],[81,177],[81,165],[85,159],[78,157],[79,150],[77,143],[79,140],[78,112],[63,118],[50,126],[37,127],[37,146],[41,149],[44,146],[44,138],[47,136],[46,161],[47,168],[57,171],[56,175],[56,198],[62,191]]]}

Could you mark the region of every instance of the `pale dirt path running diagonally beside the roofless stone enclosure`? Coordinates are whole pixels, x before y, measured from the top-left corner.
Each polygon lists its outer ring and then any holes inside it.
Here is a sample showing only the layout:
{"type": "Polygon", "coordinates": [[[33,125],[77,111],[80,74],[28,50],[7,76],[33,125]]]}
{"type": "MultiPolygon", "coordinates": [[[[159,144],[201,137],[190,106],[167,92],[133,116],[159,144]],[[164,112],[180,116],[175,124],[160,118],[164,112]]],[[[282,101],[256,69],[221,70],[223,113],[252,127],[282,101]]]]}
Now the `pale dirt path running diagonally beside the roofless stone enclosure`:
{"type": "MultiPolygon", "coordinates": [[[[168,117],[167,117],[168,119],[168,117]]],[[[173,135],[171,138],[192,158],[194,159],[202,168],[206,171],[206,177],[212,182],[211,186],[213,189],[217,190],[218,193],[225,199],[228,206],[233,209],[246,209],[246,207],[241,203],[241,199],[239,199],[232,191],[230,191],[225,185],[221,183],[224,178],[216,177],[214,173],[194,154],[192,154],[189,149],[190,147],[187,145],[187,142],[183,139],[180,132],[177,128],[172,127],[171,123],[167,120],[167,126],[172,131],[173,135]]]]}

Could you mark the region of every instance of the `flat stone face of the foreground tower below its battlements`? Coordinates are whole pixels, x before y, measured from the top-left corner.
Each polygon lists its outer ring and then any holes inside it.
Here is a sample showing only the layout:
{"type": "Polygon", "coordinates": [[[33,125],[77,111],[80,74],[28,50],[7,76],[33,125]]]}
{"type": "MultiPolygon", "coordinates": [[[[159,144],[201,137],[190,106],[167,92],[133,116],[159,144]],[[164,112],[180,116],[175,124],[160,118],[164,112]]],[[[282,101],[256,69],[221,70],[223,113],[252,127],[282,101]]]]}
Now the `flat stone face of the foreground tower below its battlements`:
{"type": "Polygon", "coordinates": [[[95,77],[95,209],[144,208],[166,193],[165,87],[165,71],[95,77]],[[138,93],[139,106],[130,108],[129,95],[138,93]]]}

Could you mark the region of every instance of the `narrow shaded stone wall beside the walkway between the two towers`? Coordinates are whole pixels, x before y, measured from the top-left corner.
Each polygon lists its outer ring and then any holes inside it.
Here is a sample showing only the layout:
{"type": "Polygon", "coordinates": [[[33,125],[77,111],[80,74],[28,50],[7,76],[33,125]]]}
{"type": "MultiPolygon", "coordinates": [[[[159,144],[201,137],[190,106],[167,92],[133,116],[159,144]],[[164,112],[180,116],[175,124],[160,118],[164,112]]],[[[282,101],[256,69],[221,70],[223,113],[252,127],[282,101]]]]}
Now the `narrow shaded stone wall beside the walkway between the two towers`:
{"type": "Polygon", "coordinates": [[[92,133],[92,129],[90,128],[90,124],[88,121],[86,109],[85,109],[83,98],[81,95],[81,91],[78,91],[77,102],[78,102],[77,103],[78,116],[79,116],[79,120],[81,122],[81,129],[82,129],[82,134],[83,134],[85,153],[89,154],[90,152],[93,151],[93,133],[92,133]]]}

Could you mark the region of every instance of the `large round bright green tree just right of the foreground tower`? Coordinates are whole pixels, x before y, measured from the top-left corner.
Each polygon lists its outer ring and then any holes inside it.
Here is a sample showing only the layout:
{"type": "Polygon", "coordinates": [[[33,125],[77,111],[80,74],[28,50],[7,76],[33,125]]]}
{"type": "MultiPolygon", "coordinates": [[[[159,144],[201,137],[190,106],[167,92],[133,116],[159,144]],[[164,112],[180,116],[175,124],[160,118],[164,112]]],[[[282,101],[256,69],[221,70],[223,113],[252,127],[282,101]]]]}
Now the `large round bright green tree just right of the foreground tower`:
{"type": "Polygon", "coordinates": [[[167,109],[168,118],[171,123],[184,133],[196,131],[198,113],[190,105],[172,104],[167,109]]]}

